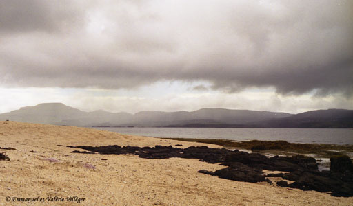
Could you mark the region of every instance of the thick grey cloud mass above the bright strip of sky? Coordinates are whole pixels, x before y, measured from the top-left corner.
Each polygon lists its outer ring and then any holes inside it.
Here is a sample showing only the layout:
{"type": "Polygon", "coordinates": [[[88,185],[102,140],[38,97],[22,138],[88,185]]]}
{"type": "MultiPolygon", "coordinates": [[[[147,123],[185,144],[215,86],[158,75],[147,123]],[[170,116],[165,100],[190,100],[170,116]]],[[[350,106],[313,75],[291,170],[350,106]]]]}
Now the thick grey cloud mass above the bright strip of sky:
{"type": "Polygon", "coordinates": [[[1,1],[1,84],[352,95],[352,1],[53,2],[1,1]]]}

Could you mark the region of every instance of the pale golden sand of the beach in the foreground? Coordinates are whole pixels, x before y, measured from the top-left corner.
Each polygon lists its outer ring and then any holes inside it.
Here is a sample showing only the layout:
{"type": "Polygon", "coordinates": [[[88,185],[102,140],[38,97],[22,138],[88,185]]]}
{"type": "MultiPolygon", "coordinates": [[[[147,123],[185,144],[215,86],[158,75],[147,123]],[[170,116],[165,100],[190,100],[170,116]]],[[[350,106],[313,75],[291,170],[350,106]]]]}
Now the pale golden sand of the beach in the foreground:
{"type": "Polygon", "coordinates": [[[223,166],[197,159],[75,154],[70,153],[75,148],[65,147],[112,144],[205,145],[90,128],[0,122],[0,147],[17,149],[0,150],[10,157],[10,161],[0,161],[0,205],[353,205],[353,198],[200,174],[198,170],[214,171],[223,166]],[[59,162],[51,163],[46,158],[59,162]],[[84,163],[96,169],[85,168],[84,163]],[[6,196],[79,196],[85,201],[14,203],[6,202],[6,196]]]}

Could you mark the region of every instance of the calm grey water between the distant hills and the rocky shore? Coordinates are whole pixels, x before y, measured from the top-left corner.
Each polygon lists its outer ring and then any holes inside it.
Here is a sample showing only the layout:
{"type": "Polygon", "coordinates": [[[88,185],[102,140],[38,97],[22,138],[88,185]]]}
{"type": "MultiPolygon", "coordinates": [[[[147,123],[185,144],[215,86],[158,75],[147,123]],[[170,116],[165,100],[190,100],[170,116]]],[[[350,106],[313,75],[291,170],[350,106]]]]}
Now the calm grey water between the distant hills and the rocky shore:
{"type": "Polygon", "coordinates": [[[232,140],[285,140],[292,143],[353,144],[353,129],[333,128],[96,128],[126,135],[232,140]]]}

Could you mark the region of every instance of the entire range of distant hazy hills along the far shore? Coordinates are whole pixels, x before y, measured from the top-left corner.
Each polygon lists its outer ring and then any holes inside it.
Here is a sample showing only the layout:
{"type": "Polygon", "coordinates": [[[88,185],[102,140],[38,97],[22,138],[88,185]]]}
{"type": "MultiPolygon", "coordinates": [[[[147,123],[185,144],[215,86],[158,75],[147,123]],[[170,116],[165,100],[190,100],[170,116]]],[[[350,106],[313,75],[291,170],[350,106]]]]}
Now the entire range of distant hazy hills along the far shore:
{"type": "Polygon", "coordinates": [[[224,108],[130,114],[85,112],[61,103],[44,103],[0,114],[0,120],[6,119],[68,126],[353,128],[353,111],[346,109],[308,111],[296,115],[224,108]]]}

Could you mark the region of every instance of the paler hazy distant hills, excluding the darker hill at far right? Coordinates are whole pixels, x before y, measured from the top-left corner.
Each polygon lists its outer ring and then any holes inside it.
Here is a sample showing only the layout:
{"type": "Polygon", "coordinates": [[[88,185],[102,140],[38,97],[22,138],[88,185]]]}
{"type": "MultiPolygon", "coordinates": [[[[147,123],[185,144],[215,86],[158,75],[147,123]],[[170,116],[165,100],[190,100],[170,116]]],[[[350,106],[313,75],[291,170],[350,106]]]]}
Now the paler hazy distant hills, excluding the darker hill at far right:
{"type": "Polygon", "coordinates": [[[168,126],[172,124],[246,124],[290,115],[223,108],[202,108],[192,112],[142,111],[132,115],[107,111],[84,112],[61,103],[45,103],[0,114],[0,119],[70,126],[168,126]]]}

